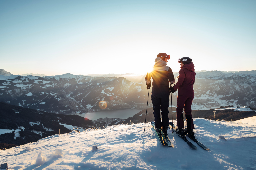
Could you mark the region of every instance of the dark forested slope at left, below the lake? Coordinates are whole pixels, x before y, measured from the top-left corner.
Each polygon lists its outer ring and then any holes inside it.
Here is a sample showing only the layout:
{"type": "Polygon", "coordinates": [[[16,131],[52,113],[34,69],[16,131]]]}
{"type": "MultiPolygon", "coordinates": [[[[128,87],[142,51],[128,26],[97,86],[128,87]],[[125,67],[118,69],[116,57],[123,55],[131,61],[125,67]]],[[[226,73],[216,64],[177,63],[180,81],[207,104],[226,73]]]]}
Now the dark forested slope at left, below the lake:
{"type": "MultiPolygon", "coordinates": [[[[15,133],[5,133],[0,135],[0,143],[23,145],[29,142],[36,142],[41,138],[45,138],[54,134],[69,133],[67,129],[59,123],[89,128],[92,121],[80,117],[78,115],[62,115],[48,112],[38,112],[34,109],[23,108],[20,106],[10,105],[0,102],[0,129],[14,129],[23,126],[25,130],[21,130],[20,137],[14,139],[15,133]],[[40,123],[39,125],[30,125],[29,122],[40,123]],[[46,128],[51,129],[47,131],[46,128]],[[35,133],[35,131],[37,133],[35,133]],[[42,136],[40,135],[42,134],[42,136]]],[[[16,132],[17,133],[17,132],[16,132]]]]}

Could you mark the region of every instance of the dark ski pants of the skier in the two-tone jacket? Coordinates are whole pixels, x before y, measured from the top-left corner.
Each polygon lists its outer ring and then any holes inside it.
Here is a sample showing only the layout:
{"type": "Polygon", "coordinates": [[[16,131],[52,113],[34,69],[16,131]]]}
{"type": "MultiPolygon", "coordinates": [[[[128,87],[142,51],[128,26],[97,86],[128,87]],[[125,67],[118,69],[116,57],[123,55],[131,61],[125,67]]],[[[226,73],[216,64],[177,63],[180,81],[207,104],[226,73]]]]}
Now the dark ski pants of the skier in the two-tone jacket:
{"type": "Polygon", "coordinates": [[[153,109],[154,109],[154,117],[155,117],[155,127],[161,128],[162,126],[168,126],[169,118],[168,118],[168,107],[169,107],[169,93],[164,94],[154,94],[151,95],[153,109]],[[160,111],[162,113],[162,122],[160,111]]]}

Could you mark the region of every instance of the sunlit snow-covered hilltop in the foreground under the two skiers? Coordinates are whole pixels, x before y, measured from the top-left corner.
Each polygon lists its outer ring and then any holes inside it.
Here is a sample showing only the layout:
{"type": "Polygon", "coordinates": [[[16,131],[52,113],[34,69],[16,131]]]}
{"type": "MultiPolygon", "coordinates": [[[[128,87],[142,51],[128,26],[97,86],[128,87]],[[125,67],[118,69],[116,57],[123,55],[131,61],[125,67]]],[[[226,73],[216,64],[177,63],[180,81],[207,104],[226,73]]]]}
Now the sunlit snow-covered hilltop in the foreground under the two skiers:
{"type": "MultiPolygon", "coordinates": [[[[176,122],[174,121],[176,124],[176,122]]],[[[191,149],[168,130],[174,148],[162,146],[150,123],[56,134],[0,151],[9,169],[255,169],[256,123],[194,119],[197,139],[210,150],[191,149]],[[225,140],[219,139],[224,136],[225,140]],[[92,146],[98,150],[92,151],[92,146]],[[26,150],[27,149],[27,150],[26,150]]]]}

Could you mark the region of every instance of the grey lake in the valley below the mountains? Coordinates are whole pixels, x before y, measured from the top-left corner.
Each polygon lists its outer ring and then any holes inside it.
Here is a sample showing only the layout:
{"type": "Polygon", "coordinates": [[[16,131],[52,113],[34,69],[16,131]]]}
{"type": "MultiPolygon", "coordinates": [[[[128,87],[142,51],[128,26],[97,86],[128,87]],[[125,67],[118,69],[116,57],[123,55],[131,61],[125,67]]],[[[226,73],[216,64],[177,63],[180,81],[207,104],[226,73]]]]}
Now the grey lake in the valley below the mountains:
{"type": "Polygon", "coordinates": [[[86,117],[90,120],[97,120],[99,118],[121,118],[127,119],[128,117],[133,117],[136,113],[139,113],[143,109],[124,109],[124,110],[103,110],[96,111],[93,113],[79,114],[79,113],[62,113],[65,115],[78,115],[81,117],[86,117]]]}

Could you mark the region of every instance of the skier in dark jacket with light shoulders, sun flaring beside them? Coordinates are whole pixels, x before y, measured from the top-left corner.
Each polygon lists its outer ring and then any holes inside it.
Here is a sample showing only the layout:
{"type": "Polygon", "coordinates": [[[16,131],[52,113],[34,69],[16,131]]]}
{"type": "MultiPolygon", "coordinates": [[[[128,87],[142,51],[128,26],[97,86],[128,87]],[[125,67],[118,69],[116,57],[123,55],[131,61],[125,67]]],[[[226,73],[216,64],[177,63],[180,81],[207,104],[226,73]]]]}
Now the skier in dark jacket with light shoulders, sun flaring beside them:
{"type": "Polygon", "coordinates": [[[171,68],[166,66],[166,63],[168,62],[167,60],[169,59],[170,55],[167,55],[166,53],[157,54],[155,65],[153,66],[153,71],[148,72],[145,77],[147,89],[151,87],[151,77],[153,79],[151,99],[154,109],[153,114],[155,117],[155,127],[159,135],[161,135],[162,127],[164,136],[167,136],[167,127],[169,123],[169,82],[175,83],[171,68]],[[162,113],[162,122],[160,117],[160,110],[162,113]]]}

